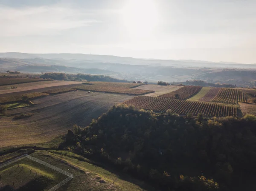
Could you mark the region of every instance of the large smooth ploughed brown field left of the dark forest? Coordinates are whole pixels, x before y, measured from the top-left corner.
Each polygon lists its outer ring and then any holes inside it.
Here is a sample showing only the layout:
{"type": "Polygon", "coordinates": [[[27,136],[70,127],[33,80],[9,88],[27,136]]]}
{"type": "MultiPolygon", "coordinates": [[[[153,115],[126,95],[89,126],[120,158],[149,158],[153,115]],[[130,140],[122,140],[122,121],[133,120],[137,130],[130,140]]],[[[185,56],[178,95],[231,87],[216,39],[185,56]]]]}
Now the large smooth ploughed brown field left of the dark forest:
{"type": "Polygon", "coordinates": [[[0,118],[0,148],[49,142],[66,133],[74,124],[89,125],[93,118],[96,119],[113,105],[132,97],[75,91],[35,99],[33,103],[36,105],[9,110],[9,117],[0,118]],[[13,119],[21,113],[29,113],[31,116],[13,119]]]}

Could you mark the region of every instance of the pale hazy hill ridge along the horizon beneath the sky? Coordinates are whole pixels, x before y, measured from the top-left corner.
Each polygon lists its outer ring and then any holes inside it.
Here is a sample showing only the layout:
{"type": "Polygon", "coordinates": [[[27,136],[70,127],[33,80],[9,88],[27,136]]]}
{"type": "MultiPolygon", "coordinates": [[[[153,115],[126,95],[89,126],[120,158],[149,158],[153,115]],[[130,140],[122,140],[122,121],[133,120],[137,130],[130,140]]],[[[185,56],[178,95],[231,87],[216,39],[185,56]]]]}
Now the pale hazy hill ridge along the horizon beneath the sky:
{"type": "Polygon", "coordinates": [[[121,63],[130,65],[157,65],[157,66],[193,66],[193,67],[221,67],[221,68],[256,68],[256,64],[241,64],[230,62],[209,62],[202,60],[160,60],[160,59],[139,59],[132,57],[118,57],[111,55],[96,54],[28,54],[20,52],[0,53],[0,57],[18,58],[18,59],[51,59],[51,60],[83,60],[85,63],[121,63]]]}

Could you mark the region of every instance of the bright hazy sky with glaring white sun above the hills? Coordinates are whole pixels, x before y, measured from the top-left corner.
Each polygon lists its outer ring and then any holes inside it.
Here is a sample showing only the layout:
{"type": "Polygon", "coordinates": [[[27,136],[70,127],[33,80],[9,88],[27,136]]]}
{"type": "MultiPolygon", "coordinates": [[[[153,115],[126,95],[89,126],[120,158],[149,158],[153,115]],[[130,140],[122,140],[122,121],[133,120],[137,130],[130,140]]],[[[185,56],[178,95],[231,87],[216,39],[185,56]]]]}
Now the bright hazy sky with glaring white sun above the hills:
{"type": "Polygon", "coordinates": [[[0,52],[256,63],[256,0],[0,0],[0,52]]]}

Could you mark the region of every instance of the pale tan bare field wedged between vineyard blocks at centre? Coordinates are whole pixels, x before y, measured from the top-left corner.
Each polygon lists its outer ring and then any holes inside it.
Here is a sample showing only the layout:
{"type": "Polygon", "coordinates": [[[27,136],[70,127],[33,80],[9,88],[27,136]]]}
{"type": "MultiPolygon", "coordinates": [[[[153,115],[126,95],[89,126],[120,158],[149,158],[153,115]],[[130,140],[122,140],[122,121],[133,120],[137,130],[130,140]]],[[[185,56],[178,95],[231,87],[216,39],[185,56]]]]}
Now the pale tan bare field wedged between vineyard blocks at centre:
{"type": "Polygon", "coordinates": [[[175,91],[181,87],[182,86],[160,86],[160,85],[148,84],[148,85],[142,85],[142,86],[136,87],[134,89],[144,89],[144,90],[155,91],[154,93],[146,94],[146,96],[157,97],[159,95],[175,91]]]}

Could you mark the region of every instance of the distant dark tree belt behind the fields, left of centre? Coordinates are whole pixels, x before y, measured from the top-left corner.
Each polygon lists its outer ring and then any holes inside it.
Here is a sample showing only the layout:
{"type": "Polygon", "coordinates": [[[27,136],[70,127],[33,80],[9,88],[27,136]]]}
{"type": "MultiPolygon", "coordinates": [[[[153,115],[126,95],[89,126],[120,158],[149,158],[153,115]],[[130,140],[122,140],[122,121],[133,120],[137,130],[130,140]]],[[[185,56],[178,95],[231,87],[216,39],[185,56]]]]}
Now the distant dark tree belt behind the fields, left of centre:
{"type": "Polygon", "coordinates": [[[65,74],[58,72],[44,73],[40,76],[44,79],[53,80],[75,80],[75,81],[101,81],[101,82],[128,82],[127,80],[119,80],[105,75],[90,75],[90,74],[65,74]]]}

